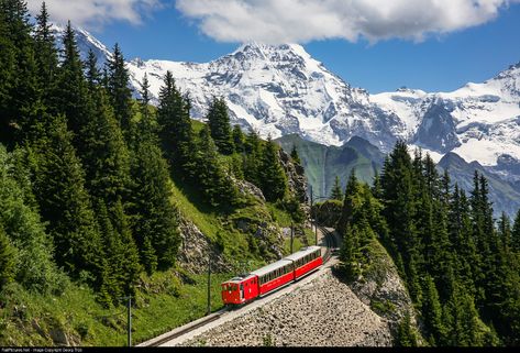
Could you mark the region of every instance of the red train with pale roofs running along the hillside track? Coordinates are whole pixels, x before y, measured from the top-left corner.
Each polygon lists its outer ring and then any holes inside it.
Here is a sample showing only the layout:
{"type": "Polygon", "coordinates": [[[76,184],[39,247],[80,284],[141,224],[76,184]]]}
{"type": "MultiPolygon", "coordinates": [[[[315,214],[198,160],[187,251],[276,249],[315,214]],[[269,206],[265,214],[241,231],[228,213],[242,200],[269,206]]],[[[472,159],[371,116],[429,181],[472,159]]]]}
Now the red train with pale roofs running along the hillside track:
{"type": "Polygon", "coordinates": [[[240,305],[307,275],[323,264],[320,246],[309,246],[253,271],[245,277],[234,277],[222,284],[222,301],[240,305]]]}

